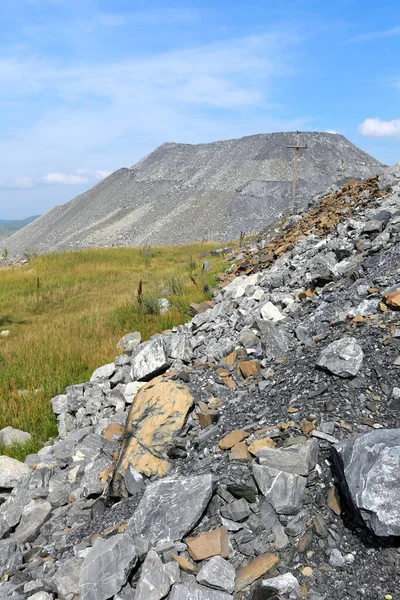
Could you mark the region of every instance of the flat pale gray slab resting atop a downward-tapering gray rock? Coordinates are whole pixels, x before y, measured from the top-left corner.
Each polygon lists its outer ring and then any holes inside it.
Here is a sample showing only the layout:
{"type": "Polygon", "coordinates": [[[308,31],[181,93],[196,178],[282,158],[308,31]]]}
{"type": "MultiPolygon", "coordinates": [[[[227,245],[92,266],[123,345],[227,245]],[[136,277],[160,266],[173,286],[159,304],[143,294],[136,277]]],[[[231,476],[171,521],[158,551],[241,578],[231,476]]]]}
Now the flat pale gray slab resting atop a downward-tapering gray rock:
{"type": "Polygon", "coordinates": [[[307,477],[318,458],[317,440],[296,444],[289,448],[262,448],[257,452],[260,464],[307,477]]]}

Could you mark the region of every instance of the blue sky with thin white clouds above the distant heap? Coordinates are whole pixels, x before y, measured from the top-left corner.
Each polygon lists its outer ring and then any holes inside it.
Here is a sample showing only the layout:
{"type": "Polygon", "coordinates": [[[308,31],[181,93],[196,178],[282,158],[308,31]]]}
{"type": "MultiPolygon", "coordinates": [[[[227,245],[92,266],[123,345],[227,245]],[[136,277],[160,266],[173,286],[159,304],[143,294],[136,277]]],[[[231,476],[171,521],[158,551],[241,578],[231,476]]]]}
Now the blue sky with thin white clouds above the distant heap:
{"type": "Polygon", "coordinates": [[[166,141],[336,131],[400,161],[398,0],[1,4],[0,218],[166,141]]]}

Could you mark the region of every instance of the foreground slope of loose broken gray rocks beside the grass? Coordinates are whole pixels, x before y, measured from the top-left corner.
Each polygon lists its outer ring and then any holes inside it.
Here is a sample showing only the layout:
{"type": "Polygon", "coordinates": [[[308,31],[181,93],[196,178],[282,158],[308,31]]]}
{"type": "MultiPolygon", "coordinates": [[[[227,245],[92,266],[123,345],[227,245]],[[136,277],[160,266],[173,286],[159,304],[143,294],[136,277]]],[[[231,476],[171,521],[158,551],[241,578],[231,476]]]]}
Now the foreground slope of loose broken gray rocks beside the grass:
{"type": "Polygon", "coordinates": [[[59,437],[0,457],[2,600],[397,597],[400,165],[380,186],[52,400],[59,437]]]}

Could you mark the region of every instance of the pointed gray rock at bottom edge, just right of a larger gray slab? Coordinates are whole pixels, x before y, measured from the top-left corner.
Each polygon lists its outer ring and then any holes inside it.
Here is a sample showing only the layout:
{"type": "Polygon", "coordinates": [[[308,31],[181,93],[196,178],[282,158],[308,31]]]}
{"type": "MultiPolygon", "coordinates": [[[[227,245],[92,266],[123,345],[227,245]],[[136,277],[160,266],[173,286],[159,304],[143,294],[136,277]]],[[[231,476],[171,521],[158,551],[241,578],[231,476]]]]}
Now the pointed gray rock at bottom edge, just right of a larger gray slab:
{"type": "MultiPolygon", "coordinates": [[[[175,565],[179,571],[178,564],[175,565]]],[[[161,600],[168,594],[173,583],[175,578],[172,577],[167,565],[162,563],[157,552],[150,550],[136,586],[135,600],[161,600]]]]}

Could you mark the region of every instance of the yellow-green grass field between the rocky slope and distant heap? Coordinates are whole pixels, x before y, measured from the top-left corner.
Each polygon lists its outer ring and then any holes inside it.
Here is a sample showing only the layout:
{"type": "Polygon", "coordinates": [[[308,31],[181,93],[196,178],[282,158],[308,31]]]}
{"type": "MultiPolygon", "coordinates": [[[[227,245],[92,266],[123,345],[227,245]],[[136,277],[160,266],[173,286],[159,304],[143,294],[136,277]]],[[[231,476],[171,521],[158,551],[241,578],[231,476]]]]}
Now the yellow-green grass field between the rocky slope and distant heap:
{"type": "Polygon", "coordinates": [[[83,250],[0,270],[0,330],[10,331],[0,337],[0,428],[11,425],[33,436],[25,447],[0,453],[22,459],[55,436],[49,400],[113,361],[122,335],[137,330],[148,339],[187,321],[190,302],[209,298],[204,285],[215,285],[215,274],[227,267],[223,257],[201,258],[215,247],[83,250]],[[203,260],[211,271],[202,271],[203,260]],[[166,288],[172,308],[152,314],[166,288]]]}

